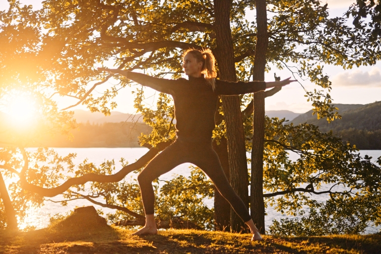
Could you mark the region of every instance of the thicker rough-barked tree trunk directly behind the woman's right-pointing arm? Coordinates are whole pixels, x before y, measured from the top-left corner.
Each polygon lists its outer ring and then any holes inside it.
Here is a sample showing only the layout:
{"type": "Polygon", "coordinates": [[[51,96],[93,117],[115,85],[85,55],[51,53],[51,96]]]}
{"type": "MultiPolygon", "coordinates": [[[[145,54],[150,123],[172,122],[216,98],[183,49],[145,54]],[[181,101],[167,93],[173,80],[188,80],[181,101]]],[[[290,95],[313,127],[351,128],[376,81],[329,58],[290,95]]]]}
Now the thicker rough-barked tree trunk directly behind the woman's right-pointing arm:
{"type": "MultiPolygon", "coordinates": [[[[232,0],[214,0],[216,59],[220,79],[236,81],[233,40],[230,29],[231,6],[232,0]]],[[[240,100],[238,96],[222,96],[222,104],[227,128],[230,183],[248,207],[248,166],[240,100]]],[[[233,209],[231,209],[230,218],[232,231],[247,232],[245,223],[233,209]]]]}

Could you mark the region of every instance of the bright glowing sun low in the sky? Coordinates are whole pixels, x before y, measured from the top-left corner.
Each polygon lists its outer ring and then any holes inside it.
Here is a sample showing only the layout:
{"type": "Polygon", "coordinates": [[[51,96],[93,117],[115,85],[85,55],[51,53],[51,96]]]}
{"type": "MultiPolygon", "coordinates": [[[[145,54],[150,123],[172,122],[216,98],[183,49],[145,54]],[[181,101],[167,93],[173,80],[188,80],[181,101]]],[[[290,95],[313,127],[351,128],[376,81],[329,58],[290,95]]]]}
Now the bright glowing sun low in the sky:
{"type": "Polygon", "coordinates": [[[7,105],[7,113],[16,121],[29,120],[35,115],[35,102],[28,96],[13,97],[7,105]]]}

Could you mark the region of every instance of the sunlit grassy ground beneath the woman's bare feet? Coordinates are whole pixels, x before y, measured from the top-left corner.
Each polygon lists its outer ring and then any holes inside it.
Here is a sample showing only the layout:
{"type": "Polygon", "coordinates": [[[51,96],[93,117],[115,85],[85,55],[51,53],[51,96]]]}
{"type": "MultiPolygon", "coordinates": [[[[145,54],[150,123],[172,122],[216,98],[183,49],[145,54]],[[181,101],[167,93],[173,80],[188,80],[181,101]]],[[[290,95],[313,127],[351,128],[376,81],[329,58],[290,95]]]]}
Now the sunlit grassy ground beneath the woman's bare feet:
{"type": "Polygon", "coordinates": [[[41,229],[0,231],[0,254],[125,253],[381,253],[381,235],[277,238],[251,243],[250,235],[197,230],[160,231],[131,236],[132,231],[104,227],[81,232],[41,229]]]}

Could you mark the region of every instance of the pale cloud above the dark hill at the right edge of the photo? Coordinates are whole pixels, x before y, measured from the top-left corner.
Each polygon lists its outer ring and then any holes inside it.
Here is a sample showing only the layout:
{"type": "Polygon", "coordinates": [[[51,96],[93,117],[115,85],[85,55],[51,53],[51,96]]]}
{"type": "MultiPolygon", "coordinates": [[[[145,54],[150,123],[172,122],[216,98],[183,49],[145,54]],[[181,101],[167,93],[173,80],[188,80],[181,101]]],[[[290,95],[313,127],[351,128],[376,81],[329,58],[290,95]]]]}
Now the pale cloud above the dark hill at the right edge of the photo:
{"type": "Polygon", "coordinates": [[[381,71],[379,68],[373,67],[370,71],[356,69],[351,72],[340,72],[333,76],[332,85],[381,87],[381,71]]]}

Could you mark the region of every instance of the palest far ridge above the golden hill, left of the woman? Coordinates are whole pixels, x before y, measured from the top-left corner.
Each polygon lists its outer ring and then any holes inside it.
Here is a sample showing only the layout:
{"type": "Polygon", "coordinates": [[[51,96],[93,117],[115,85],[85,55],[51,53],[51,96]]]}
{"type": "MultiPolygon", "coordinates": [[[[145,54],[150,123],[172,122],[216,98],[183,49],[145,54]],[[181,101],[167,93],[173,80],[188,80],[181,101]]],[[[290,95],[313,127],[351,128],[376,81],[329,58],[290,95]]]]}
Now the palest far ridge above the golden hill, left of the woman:
{"type": "Polygon", "coordinates": [[[112,111],[111,116],[105,116],[101,112],[90,112],[85,110],[74,110],[74,119],[77,123],[87,123],[90,124],[104,124],[104,123],[143,123],[141,114],[126,114],[118,111],[112,111]]]}

